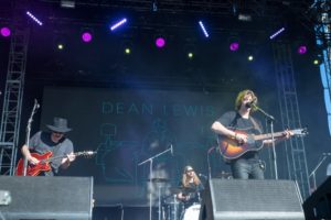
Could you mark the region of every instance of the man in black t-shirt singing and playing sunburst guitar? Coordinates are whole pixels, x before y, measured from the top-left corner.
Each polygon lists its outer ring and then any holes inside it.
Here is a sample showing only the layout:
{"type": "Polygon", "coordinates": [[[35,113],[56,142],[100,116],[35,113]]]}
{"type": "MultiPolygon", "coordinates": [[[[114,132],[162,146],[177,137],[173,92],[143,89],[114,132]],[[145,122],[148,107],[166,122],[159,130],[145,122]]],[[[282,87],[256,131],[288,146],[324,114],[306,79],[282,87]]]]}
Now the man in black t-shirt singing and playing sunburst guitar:
{"type": "MultiPolygon", "coordinates": [[[[247,143],[247,134],[263,133],[261,123],[250,116],[255,111],[257,97],[252,90],[243,90],[237,95],[235,111],[225,112],[212,124],[212,130],[218,138],[226,136],[237,143],[247,143]],[[236,131],[244,131],[243,133],[236,131]],[[245,134],[246,133],[246,134],[245,134]]],[[[284,135],[275,139],[275,142],[289,139],[292,135],[284,131],[284,135]]],[[[271,144],[273,140],[264,140],[261,144],[271,144]]],[[[264,162],[259,160],[258,151],[247,151],[234,160],[227,160],[234,178],[239,179],[264,179],[264,162]]]]}

